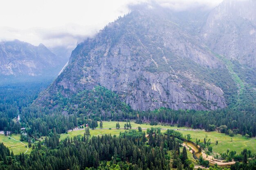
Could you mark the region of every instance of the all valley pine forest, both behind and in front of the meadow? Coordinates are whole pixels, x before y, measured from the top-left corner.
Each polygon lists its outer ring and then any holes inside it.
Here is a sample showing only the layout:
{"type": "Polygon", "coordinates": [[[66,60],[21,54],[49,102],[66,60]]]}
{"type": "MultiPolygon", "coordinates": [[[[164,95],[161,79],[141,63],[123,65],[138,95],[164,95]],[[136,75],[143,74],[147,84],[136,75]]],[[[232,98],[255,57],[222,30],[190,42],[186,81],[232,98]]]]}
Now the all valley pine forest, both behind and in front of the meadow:
{"type": "MultiPolygon", "coordinates": [[[[200,128],[205,131],[218,130],[230,136],[238,133],[247,137],[256,135],[256,115],[245,106],[242,108],[237,105],[215,111],[159,108],[139,112],[122,102],[119,95],[101,86],[96,86],[92,91],[83,91],[70,99],[59,97],[57,107],[54,108],[32,104],[38,93],[47,85],[48,83],[45,82],[0,88],[0,130],[3,130],[5,135],[23,134],[22,140],[29,141],[29,147],[32,147],[29,155],[22,153],[13,155],[9,148],[1,144],[0,166],[2,169],[167,170],[177,168],[192,170],[194,168],[193,163],[184,156],[185,153],[183,154],[186,152],[181,146],[184,138],[179,136],[179,132],[173,133],[168,130],[162,133],[155,129],[149,131],[146,138],[145,132],[130,129],[127,132],[120,132],[118,137],[115,135],[96,137],[90,136],[88,129],[82,137],[67,137],[59,140],[59,134],[67,130],[85,124],[93,129],[97,127],[97,121],[102,120],[175,125],[200,128]],[[20,120],[17,120],[18,115],[20,120]],[[46,138],[43,141],[37,141],[42,136],[46,138]]],[[[256,162],[250,158],[253,157],[250,152],[244,151],[237,154],[222,155],[225,159],[238,161],[230,167],[231,170],[255,168],[256,162]],[[245,159],[247,161],[244,161],[245,159]]],[[[209,162],[202,158],[199,159],[199,163],[209,166],[209,162]]]]}

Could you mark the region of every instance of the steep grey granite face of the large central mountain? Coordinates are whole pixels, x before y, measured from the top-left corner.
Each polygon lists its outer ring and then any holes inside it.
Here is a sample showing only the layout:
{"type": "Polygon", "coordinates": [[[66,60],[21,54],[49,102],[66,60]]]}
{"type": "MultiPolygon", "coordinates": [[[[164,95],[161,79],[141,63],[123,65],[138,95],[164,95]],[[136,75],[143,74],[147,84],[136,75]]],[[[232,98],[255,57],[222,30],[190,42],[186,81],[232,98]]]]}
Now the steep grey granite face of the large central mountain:
{"type": "Polygon", "coordinates": [[[227,79],[225,65],[168,11],[133,11],[79,44],[34,103],[52,104],[57,93],[69,97],[100,85],[135,110],[216,110],[227,105],[227,79]]]}

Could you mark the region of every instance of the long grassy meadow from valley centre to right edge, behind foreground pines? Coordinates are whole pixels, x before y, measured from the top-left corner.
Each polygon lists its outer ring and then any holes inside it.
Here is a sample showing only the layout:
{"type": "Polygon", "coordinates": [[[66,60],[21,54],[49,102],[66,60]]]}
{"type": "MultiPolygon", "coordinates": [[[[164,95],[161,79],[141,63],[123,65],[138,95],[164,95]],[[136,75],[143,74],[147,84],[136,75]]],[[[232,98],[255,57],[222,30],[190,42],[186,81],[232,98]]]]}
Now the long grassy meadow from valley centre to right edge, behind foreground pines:
{"type": "MultiPolygon", "coordinates": [[[[120,128],[124,128],[124,124],[126,122],[119,122],[120,128]]],[[[99,122],[98,122],[99,124],[99,122]]],[[[104,134],[110,134],[111,135],[119,135],[120,132],[124,132],[124,129],[116,129],[117,121],[103,121],[103,128],[112,128],[109,129],[99,129],[96,130],[90,130],[91,135],[104,135],[104,134]]],[[[131,122],[132,128],[137,128],[138,126],[141,126],[141,128],[151,128],[151,127],[159,127],[164,129],[188,129],[184,127],[177,128],[177,126],[151,126],[149,124],[135,124],[134,122],[131,122]]],[[[165,130],[162,130],[164,132],[165,130]]],[[[250,138],[246,139],[245,137],[242,137],[241,135],[235,135],[231,137],[228,135],[225,135],[223,133],[218,132],[205,132],[204,130],[198,130],[198,131],[192,131],[192,130],[179,130],[183,135],[190,134],[192,137],[192,141],[195,142],[195,139],[200,139],[200,141],[204,141],[205,135],[207,135],[207,140],[211,139],[211,146],[213,148],[213,152],[217,153],[223,153],[226,152],[227,149],[235,150],[236,152],[241,152],[243,149],[247,148],[247,150],[251,150],[252,153],[256,153],[256,139],[250,138]],[[218,145],[215,145],[216,140],[218,140],[218,145]]],[[[84,130],[74,130],[71,132],[68,132],[67,134],[61,135],[61,140],[65,139],[67,136],[74,137],[76,135],[83,135],[84,130]]]]}

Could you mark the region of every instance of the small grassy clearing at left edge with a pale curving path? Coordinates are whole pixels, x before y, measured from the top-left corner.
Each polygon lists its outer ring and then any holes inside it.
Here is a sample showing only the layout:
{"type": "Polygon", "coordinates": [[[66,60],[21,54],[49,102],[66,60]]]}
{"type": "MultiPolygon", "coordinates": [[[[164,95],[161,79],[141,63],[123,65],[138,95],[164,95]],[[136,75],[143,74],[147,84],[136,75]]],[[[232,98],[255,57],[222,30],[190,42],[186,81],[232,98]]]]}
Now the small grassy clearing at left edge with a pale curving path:
{"type": "MultiPolygon", "coordinates": [[[[11,135],[11,137],[13,137],[16,140],[20,140],[20,134],[18,135],[11,135]]],[[[13,150],[14,154],[20,154],[20,152],[26,152],[27,148],[20,143],[19,141],[15,141],[7,136],[4,135],[0,135],[0,143],[3,143],[5,146],[7,146],[10,151],[13,150]]],[[[28,145],[27,142],[23,142],[25,145],[28,145]]],[[[31,152],[31,148],[29,148],[29,150],[27,151],[26,154],[31,152]]]]}

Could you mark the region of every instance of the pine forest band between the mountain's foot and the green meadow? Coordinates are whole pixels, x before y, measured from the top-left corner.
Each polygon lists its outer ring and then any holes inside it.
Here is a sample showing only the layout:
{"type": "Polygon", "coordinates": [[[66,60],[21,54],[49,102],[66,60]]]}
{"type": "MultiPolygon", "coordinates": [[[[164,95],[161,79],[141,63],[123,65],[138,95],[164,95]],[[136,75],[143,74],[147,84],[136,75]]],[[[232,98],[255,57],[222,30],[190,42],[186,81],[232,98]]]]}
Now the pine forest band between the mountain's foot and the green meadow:
{"type": "Polygon", "coordinates": [[[229,132],[247,134],[249,137],[256,135],[256,114],[252,108],[256,102],[253,103],[255,99],[246,95],[242,101],[252,99],[249,102],[250,105],[236,105],[222,110],[195,111],[159,108],[154,111],[139,112],[132,110],[114,92],[96,86],[92,91],[83,91],[70,99],[60,96],[59,103],[54,108],[35,106],[32,104],[33,99],[45,86],[46,84],[40,84],[39,87],[31,84],[31,86],[13,86],[13,88],[2,87],[0,130],[19,133],[20,127],[25,127],[29,135],[40,137],[47,136],[53,128],[57,133],[64,133],[92,119],[97,121],[134,120],[139,124],[149,123],[151,125],[173,126],[177,124],[178,127],[201,128],[207,131],[225,126],[221,132],[227,135],[229,132]],[[18,115],[20,115],[20,121],[15,123],[13,118],[18,115]]]}

